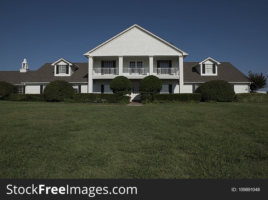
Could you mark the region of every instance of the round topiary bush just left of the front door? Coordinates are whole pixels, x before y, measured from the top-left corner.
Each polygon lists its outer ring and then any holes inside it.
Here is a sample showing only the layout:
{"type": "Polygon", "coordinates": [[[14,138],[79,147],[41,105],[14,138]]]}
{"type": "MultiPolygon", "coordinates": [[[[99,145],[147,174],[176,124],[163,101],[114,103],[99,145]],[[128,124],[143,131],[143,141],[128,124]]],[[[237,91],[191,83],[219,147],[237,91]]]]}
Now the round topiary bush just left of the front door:
{"type": "Polygon", "coordinates": [[[131,94],[130,90],[132,89],[131,81],[125,76],[117,76],[112,79],[110,83],[110,89],[113,90],[113,93],[118,94],[119,96],[124,96],[126,94],[131,94]]]}

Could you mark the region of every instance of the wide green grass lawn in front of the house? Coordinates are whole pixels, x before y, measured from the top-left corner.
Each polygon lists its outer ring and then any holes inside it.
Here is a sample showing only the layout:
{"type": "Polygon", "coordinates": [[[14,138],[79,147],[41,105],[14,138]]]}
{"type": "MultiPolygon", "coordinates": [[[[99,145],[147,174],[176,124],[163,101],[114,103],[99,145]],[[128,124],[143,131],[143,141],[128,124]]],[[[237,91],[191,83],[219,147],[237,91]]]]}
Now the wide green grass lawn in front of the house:
{"type": "Polygon", "coordinates": [[[268,178],[268,103],[6,103],[0,178],[268,178]]]}

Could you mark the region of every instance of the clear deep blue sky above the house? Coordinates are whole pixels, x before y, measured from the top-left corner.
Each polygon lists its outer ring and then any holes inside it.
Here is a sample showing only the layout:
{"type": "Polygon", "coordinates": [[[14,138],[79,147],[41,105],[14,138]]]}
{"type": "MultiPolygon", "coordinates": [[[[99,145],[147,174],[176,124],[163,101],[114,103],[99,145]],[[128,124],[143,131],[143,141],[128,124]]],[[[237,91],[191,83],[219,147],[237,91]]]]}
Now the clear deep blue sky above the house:
{"type": "Polygon", "coordinates": [[[0,70],[36,70],[83,53],[137,23],[189,53],[212,57],[244,74],[268,74],[266,1],[1,1],[0,70]]]}

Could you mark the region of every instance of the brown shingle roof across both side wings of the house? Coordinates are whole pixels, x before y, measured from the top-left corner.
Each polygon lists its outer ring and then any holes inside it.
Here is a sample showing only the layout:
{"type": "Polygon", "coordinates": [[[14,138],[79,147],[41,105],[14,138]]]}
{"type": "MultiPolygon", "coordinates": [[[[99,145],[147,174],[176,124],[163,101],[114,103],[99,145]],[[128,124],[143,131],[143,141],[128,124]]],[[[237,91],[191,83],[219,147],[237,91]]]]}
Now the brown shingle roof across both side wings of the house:
{"type": "MultiPolygon", "coordinates": [[[[218,65],[217,76],[201,76],[192,66],[198,62],[183,62],[184,82],[206,82],[221,79],[228,82],[249,82],[248,78],[229,62],[221,62],[218,65]]],[[[65,80],[67,82],[88,82],[88,63],[74,63],[78,68],[71,76],[54,76],[54,66],[46,63],[36,71],[0,71],[0,80],[12,84],[21,82],[51,82],[54,80],[65,80]]]]}

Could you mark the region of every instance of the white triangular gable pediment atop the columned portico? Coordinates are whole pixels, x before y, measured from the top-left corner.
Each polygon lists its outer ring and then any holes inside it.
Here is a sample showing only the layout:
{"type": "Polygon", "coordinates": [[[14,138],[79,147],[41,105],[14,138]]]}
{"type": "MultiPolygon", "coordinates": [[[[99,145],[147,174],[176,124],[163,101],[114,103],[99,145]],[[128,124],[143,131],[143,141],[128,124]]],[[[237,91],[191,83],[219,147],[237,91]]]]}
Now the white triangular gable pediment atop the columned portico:
{"type": "Polygon", "coordinates": [[[173,44],[134,24],[115,37],[84,54],[85,56],[188,55],[173,44]]]}

